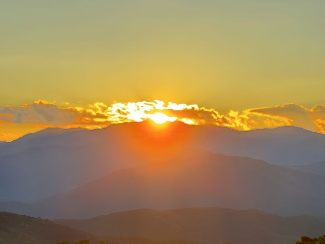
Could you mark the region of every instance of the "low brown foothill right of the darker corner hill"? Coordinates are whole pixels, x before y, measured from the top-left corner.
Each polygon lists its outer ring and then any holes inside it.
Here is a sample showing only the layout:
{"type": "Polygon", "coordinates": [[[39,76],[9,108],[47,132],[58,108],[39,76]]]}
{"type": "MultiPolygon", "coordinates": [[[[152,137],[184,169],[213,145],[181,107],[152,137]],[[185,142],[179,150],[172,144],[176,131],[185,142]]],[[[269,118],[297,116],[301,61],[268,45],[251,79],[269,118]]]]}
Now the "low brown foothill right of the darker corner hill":
{"type": "Polygon", "coordinates": [[[207,244],[292,244],[302,235],[318,236],[325,231],[322,218],[281,217],[258,210],[227,208],[137,209],[56,222],[97,236],[180,238],[207,244]]]}

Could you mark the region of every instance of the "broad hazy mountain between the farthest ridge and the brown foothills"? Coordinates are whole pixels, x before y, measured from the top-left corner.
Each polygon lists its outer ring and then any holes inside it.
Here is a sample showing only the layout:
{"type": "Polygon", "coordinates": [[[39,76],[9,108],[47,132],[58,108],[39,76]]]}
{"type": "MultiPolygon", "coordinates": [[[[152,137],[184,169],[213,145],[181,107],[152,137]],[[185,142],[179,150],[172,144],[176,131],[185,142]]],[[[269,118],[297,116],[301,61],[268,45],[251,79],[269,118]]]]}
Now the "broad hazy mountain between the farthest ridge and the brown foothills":
{"type": "Polygon", "coordinates": [[[73,191],[0,209],[45,218],[90,218],[136,208],[223,206],[325,216],[325,177],[250,158],[197,152],[118,170],[73,191]]]}

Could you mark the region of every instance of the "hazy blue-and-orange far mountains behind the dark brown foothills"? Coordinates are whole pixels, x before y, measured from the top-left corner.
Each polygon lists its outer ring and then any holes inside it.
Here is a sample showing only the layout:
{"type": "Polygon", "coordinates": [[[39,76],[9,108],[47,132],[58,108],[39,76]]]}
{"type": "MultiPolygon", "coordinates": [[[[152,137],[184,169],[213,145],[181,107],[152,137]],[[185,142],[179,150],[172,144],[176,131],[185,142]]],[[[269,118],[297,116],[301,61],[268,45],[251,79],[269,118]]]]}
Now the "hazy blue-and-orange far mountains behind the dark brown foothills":
{"type": "Polygon", "coordinates": [[[320,157],[324,143],[325,135],[293,127],[242,132],[182,123],[156,128],[146,121],[48,129],[0,145],[6,199],[0,210],[90,218],[135,208],[221,206],[325,216],[325,177],[289,162],[295,153],[320,157]],[[292,154],[285,167],[213,153],[285,158],[282,147],[292,154]]]}

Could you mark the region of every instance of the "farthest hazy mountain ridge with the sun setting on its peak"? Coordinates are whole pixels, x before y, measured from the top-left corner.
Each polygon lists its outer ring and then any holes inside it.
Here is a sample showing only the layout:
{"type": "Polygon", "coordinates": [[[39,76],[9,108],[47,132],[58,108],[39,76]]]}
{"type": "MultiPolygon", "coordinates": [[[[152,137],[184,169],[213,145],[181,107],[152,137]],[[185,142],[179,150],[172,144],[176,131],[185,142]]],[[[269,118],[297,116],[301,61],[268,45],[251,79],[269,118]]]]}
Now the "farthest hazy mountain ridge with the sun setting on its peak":
{"type": "Polygon", "coordinates": [[[0,144],[0,201],[37,201],[166,154],[203,149],[278,165],[325,159],[325,135],[295,127],[236,131],[150,121],[101,130],[45,129],[0,144]]]}

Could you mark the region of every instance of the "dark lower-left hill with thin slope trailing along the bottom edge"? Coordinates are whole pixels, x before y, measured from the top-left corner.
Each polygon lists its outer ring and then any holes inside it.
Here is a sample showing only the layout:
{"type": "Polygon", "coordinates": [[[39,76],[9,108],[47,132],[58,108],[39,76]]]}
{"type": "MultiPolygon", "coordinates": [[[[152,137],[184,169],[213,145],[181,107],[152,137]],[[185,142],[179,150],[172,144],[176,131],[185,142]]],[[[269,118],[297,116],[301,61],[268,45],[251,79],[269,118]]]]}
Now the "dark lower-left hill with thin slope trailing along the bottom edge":
{"type": "Polygon", "coordinates": [[[99,238],[53,221],[0,212],[0,244],[55,244],[60,241],[73,243],[79,240],[89,240],[90,243],[104,240],[105,243],[109,241],[110,244],[195,244],[185,240],[162,241],[136,236],[118,235],[99,238]]]}

